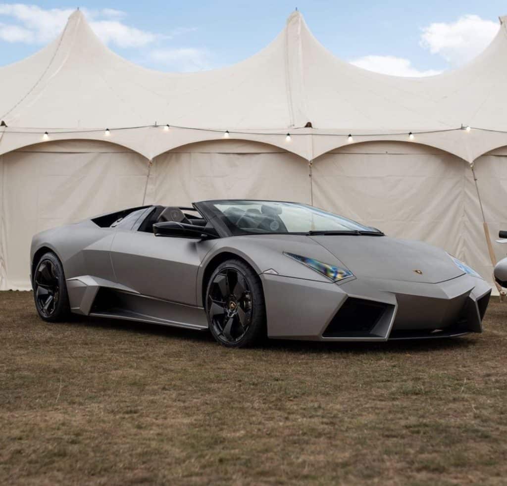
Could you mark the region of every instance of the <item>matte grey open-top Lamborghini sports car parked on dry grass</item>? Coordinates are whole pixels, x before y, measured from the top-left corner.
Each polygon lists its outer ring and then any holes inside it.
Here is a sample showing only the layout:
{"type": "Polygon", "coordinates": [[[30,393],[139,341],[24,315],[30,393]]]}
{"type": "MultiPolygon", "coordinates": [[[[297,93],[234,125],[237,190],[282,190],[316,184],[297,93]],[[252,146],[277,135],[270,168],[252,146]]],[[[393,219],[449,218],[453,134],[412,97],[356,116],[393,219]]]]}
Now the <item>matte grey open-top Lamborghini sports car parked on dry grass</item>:
{"type": "Polygon", "coordinates": [[[229,347],[481,332],[491,292],[444,250],[275,201],[126,209],[39,233],[30,256],[44,320],[209,329],[229,347]]]}

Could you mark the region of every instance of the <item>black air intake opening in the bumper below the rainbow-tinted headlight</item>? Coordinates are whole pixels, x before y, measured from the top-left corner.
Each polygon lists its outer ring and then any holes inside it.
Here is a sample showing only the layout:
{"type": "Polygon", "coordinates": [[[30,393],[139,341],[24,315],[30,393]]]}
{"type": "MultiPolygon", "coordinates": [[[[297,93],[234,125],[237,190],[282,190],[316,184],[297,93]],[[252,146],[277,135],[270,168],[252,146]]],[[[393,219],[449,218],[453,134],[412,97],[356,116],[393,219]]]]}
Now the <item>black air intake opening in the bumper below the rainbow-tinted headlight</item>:
{"type": "Polygon", "coordinates": [[[371,335],[387,308],[386,304],[349,297],[323,333],[324,338],[371,335]]]}

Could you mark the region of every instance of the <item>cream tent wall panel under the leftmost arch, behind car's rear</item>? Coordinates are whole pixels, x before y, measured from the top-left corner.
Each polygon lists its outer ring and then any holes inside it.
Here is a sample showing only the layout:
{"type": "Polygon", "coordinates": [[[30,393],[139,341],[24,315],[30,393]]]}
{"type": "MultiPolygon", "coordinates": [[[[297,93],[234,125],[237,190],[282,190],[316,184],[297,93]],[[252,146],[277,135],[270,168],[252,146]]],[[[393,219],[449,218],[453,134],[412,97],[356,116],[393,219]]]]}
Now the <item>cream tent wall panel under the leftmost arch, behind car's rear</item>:
{"type": "Polygon", "coordinates": [[[35,233],[142,203],[148,165],[138,154],[106,142],[38,148],[0,157],[0,290],[31,288],[35,233]]]}

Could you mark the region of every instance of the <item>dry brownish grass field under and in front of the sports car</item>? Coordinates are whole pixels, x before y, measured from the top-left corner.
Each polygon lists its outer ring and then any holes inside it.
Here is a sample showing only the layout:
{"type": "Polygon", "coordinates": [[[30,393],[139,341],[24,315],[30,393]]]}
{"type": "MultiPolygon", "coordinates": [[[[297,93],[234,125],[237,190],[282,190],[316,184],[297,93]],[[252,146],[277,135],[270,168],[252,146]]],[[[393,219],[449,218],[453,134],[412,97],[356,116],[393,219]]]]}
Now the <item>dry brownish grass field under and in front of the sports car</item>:
{"type": "Polygon", "coordinates": [[[0,484],[507,484],[507,303],[455,340],[228,350],[0,292],[0,331],[0,484]]]}

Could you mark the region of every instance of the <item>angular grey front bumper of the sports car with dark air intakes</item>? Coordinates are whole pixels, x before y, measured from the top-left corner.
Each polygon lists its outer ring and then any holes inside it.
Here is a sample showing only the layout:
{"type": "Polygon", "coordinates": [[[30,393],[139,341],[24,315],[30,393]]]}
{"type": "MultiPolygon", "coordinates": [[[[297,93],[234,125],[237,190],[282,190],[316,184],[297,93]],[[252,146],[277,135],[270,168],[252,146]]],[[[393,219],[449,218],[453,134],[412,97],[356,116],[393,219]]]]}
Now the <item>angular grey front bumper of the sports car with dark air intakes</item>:
{"type": "Polygon", "coordinates": [[[470,275],[437,284],[357,278],[342,284],[261,275],[268,336],[387,341],[482,332],[491,287],[470,275]]]}

